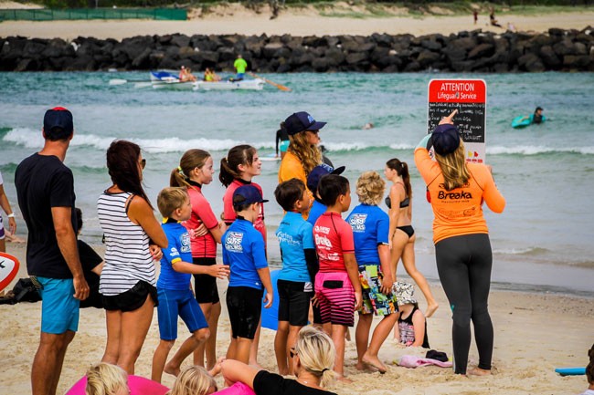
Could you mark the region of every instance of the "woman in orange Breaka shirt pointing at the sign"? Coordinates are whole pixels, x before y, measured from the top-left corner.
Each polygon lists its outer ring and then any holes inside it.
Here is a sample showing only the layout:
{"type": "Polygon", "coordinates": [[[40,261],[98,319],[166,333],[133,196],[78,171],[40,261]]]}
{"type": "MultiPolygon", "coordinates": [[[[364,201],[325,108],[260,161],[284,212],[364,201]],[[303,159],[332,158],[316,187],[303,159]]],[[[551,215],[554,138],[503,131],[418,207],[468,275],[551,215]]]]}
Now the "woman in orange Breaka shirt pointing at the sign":
{"type": "Polygon", "coordinates": [[[466,162],[464,144],[452,122],[455,114],[456,110],[421,140],[415,164],[427,184],[435,216],[437,268],[453,313],[454,372],[466,374],[472,320],[479,365],[470,373],[486,375],[493,355],[493,324],[487,307],[493,254],[483,202],[494,213],[502,213],[505,199],[490,167],[466,162]],[[430,146],[436,161],[430,158],[430,146]]]}

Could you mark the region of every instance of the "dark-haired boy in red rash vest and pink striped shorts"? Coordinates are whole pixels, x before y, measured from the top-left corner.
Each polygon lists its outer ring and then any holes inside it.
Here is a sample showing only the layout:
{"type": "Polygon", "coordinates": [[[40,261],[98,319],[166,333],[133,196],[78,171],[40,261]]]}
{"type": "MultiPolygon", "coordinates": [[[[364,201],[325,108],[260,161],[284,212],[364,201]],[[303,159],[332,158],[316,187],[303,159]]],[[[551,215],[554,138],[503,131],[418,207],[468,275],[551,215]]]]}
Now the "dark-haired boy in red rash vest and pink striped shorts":
{"type": "Polygon", "coordinates": [[[353,229],[341,217],[351,205],[351,192],[348,180],[335,174],[322,177],[318,192],[328,208],[313,227],[320,261],[320,270],[315,275],[315,296],[322,324],[332,324],[331,337],[336,348],[334,371],[340,379],[350,381],[344,377],[345,332],[355,324],[355,308],[361,307],[353,229]]]}

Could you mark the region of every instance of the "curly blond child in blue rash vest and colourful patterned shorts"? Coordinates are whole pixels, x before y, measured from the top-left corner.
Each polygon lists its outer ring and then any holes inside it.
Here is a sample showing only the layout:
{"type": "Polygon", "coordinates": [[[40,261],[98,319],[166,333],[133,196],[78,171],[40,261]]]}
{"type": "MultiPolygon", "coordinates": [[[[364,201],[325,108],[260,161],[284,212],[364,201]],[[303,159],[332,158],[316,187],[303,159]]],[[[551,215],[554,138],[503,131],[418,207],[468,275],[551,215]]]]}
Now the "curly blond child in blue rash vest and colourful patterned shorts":
{"type": "Polygon", "coordinates": [[[359,281],[363,289],[363,306],[356,325],[356,369],[365,365],[386,372],[386,366],[377,358],[398,317],[396,297],[392,294],[394,275],[390,268],[388,246],[389,217],[377,207],[386,191],[386,182],[377,172],[364,172],[356,182],[359,202],[346,218],[353,228],[355,258],[359,265],[359,281]],[[383,317],[369,340],[373,316],[383,317]]]}

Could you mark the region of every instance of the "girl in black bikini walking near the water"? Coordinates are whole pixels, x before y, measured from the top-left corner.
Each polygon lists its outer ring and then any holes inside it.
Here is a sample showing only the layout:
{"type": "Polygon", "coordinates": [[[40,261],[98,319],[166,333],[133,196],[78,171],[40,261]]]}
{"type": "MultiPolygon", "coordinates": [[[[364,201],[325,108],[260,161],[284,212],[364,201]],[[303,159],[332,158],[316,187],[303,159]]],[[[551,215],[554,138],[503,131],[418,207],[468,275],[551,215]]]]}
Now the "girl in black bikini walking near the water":
{"type": "Polygon", "coordinates": [[[399,161],[397,158],[386,162],[384,174],[388,181],[392,182],[389,196],[386,198],[386,204],[389,208],[390,227],[390,263],[392,273],[396,278],[396,269],[398,261],[402,259],[402,265],[408,275],[419,286],[421,292],[427,300],[427,310],[425,317],[431,317],[438,303],[431,294],[429,283],[415,265],[415,230],[412,223],[412,187],[410,186],[410,175],[408,174],[408,164],[399,161]]]}

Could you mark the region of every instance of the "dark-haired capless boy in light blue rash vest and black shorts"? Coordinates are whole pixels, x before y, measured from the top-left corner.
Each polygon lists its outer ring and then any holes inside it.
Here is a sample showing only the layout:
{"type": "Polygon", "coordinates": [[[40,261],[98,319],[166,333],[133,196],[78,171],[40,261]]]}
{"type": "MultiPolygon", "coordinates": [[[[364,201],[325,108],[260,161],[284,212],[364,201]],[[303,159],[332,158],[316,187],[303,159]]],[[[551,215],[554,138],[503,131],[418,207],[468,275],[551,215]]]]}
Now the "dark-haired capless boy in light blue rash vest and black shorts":
{"type": "Polygon", "coordinates": [[[318,272],[318,258],[313,244],[313,225],[302,213],[310,206],[305,184],[296,178],[282,182],[274,191],[276,201],[287,212],[276,232],[281,246],[282,270],[277,281],[279,292],[279,327],[274,338],[279,373],[293,374],[290,350],[299,331],[307,325],[313,278],[318,272]]]}

